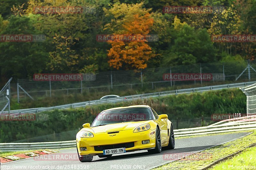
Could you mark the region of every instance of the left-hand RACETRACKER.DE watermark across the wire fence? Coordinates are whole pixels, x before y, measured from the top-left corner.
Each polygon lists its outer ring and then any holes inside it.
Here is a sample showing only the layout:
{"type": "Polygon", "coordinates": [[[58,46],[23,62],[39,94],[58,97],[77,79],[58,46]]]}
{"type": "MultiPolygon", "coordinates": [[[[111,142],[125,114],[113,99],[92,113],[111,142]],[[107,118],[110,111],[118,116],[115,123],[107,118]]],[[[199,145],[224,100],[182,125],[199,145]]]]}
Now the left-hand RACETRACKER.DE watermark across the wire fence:
{"type": "Polygon", "coordinates": [[[95,81],[96,75],[92,73],[88,74],[72,74],[72,73],[38,73],[33,75],[34,81],[95,81]]]}

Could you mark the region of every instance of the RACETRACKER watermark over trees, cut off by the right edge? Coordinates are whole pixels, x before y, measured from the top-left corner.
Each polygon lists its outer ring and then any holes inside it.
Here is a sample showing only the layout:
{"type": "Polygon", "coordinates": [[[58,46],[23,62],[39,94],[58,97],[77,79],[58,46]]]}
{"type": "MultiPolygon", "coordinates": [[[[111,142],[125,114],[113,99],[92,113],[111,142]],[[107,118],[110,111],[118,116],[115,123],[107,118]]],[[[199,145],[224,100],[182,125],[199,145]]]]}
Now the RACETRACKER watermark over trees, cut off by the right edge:
{"type": "Polygon", "coordinates": [[[256,42],[256,35],[212,35],[213,42],[256,42]]]}

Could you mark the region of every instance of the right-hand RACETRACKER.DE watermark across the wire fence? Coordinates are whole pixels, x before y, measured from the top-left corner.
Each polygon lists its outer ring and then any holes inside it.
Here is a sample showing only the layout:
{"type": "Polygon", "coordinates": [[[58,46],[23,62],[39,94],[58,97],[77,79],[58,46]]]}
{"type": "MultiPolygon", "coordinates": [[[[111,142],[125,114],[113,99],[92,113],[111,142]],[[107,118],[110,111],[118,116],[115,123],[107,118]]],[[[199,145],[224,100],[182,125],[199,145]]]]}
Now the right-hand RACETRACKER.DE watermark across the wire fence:
{"type": "Polygon", "coordinates": [[[164,81],[222,81],[223,73],[164,73],[164,81]]]}

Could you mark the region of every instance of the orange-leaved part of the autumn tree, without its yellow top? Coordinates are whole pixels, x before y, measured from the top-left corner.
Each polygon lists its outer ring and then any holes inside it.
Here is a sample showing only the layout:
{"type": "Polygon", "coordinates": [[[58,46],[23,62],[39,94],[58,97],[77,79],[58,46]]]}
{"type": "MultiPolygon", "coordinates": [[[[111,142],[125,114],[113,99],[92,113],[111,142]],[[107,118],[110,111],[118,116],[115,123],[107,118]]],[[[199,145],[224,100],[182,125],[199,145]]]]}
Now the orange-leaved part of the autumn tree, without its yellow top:
{"type": "Polygon", "coordinates": [[[121,35],[123,37],[130,36],[135,37],[135,39],[132,41],[124,41],[117,38],[108,41],[112,46],[112,48],[108,50],[108,63],[117,70],[120,68],[126,70],[145,69],[147,68],[147,61],[155,56],[145,38],[150,32],[150,27],[153,26],[153,18],[150,18],[150,14],[147,11],[145,13],[134,14],[132,17],[124,17],[123,21],[124,24],[122,27],[119,27],[116,31],[119,34],[115,33],[113,35],[116,37],[120,37],[121,35]]]}

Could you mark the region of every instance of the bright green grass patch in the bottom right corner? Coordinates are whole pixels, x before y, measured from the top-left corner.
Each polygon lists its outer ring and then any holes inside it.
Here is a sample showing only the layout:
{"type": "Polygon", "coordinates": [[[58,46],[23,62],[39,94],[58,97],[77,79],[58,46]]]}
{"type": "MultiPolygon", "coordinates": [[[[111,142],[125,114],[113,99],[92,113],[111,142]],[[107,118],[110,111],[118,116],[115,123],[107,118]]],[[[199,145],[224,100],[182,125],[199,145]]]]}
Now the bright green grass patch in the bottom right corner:
{"type": "Polygon", "coordinates": [[[221,162],[220,164],[213,166],[212,169],[249,169],[249,167],[244,166],[250,166],[253,168],[250,169],[256,169],[256,147],[247,148],[242,153],[234,156],[231,159],[228,159],[224,162],[221,162]],[[243,166],[243,167],[241,167],[243,166]],[[236,168],[237,167],[237,168],[236,168]],[[240,168],[239,168],[240,167],[240,168]]]}

